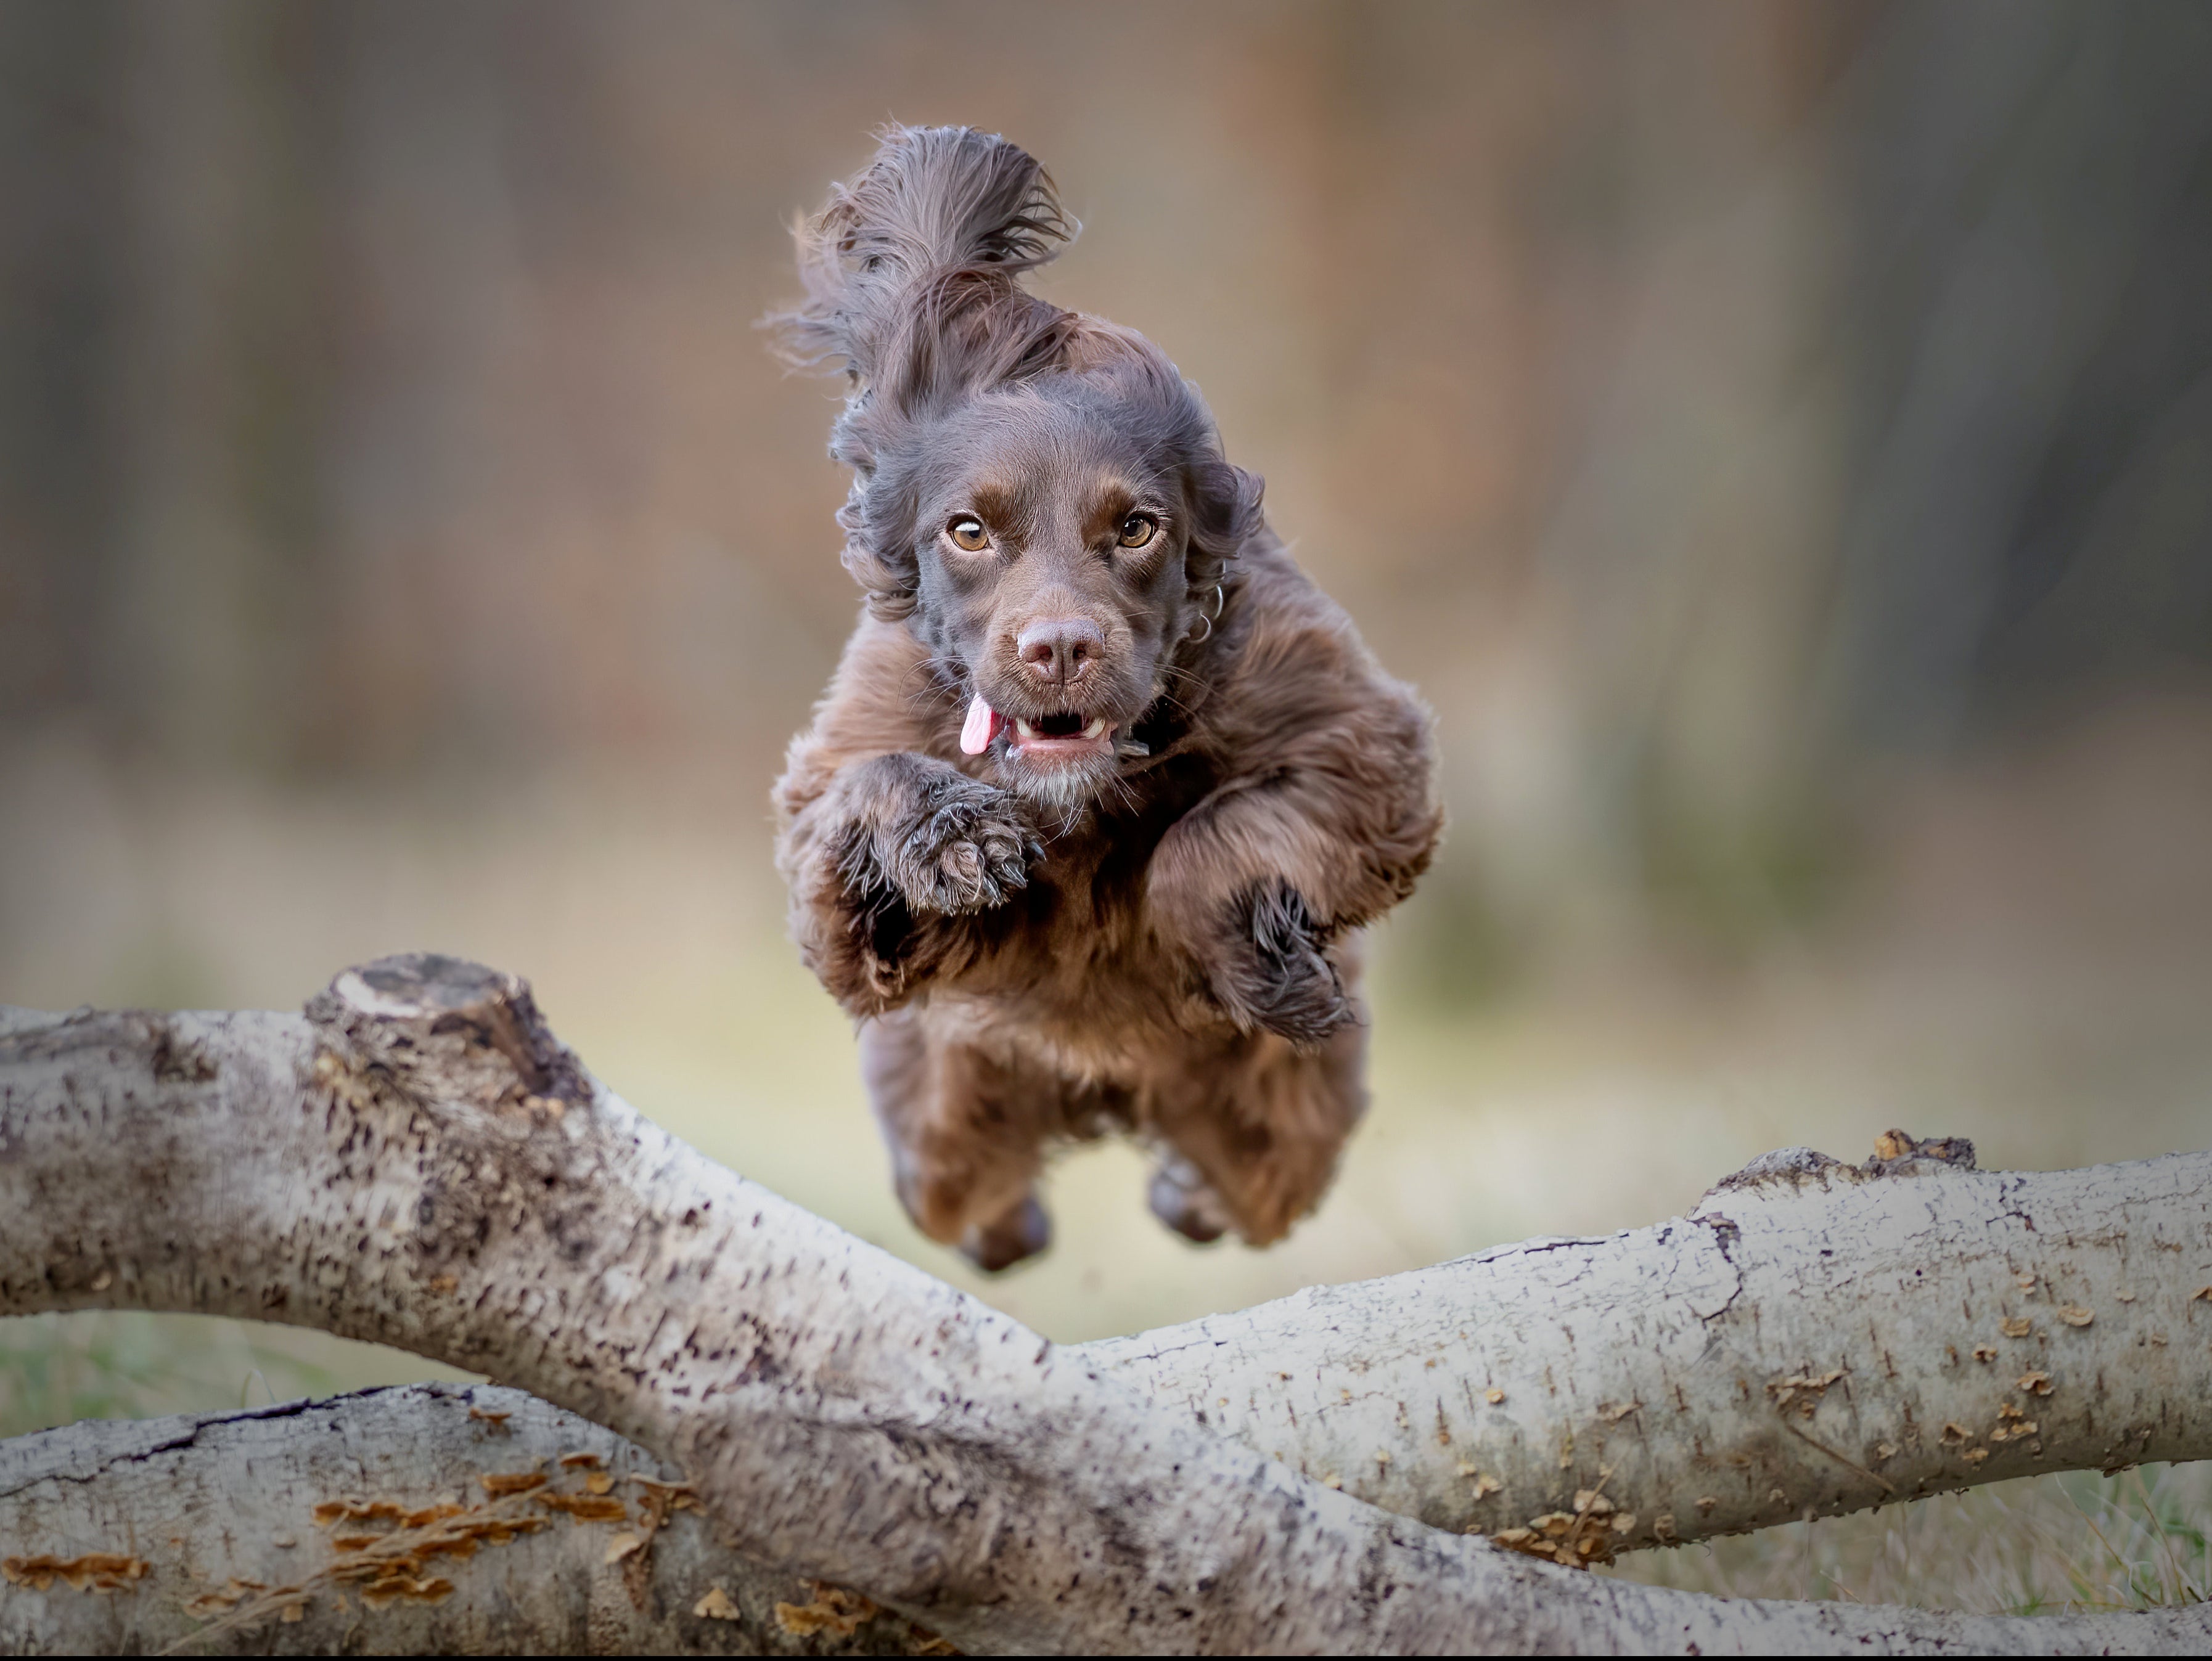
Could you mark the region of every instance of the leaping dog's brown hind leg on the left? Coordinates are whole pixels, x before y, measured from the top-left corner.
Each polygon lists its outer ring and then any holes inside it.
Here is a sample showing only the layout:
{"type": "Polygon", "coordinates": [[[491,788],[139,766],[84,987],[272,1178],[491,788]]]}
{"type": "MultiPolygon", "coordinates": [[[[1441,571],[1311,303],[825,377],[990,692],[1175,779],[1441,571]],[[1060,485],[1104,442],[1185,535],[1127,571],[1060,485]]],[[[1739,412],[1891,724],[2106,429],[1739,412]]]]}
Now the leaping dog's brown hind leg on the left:
{"type": "Polygon", "coordinates": [[[1051,1219],[1033,1185],[1066,1121],[1057,1077],[945,1040],[907,1011],[860,1028],[860,1073],[922,1234],[991,1272],[1046,1247],[1051,1219]]]}

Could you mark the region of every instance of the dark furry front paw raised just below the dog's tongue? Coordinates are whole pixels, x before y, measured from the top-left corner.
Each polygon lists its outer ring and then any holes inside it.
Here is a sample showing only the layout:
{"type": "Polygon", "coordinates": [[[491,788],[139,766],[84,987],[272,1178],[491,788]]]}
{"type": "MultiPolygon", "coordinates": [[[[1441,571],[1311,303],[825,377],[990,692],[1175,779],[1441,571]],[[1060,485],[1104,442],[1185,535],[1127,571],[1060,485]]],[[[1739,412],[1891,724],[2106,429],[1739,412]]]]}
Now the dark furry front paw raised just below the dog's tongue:
{"type": "Polygon", "coordinates": [[[887,887],[916,913],[960,916],[1029,887],[1044,847],[1004,790],[945,772],[920,783],[907,812],[860,840],[847,880],[887,887]],[[867,867],[867,869],[863,869],[867,867]]]}

